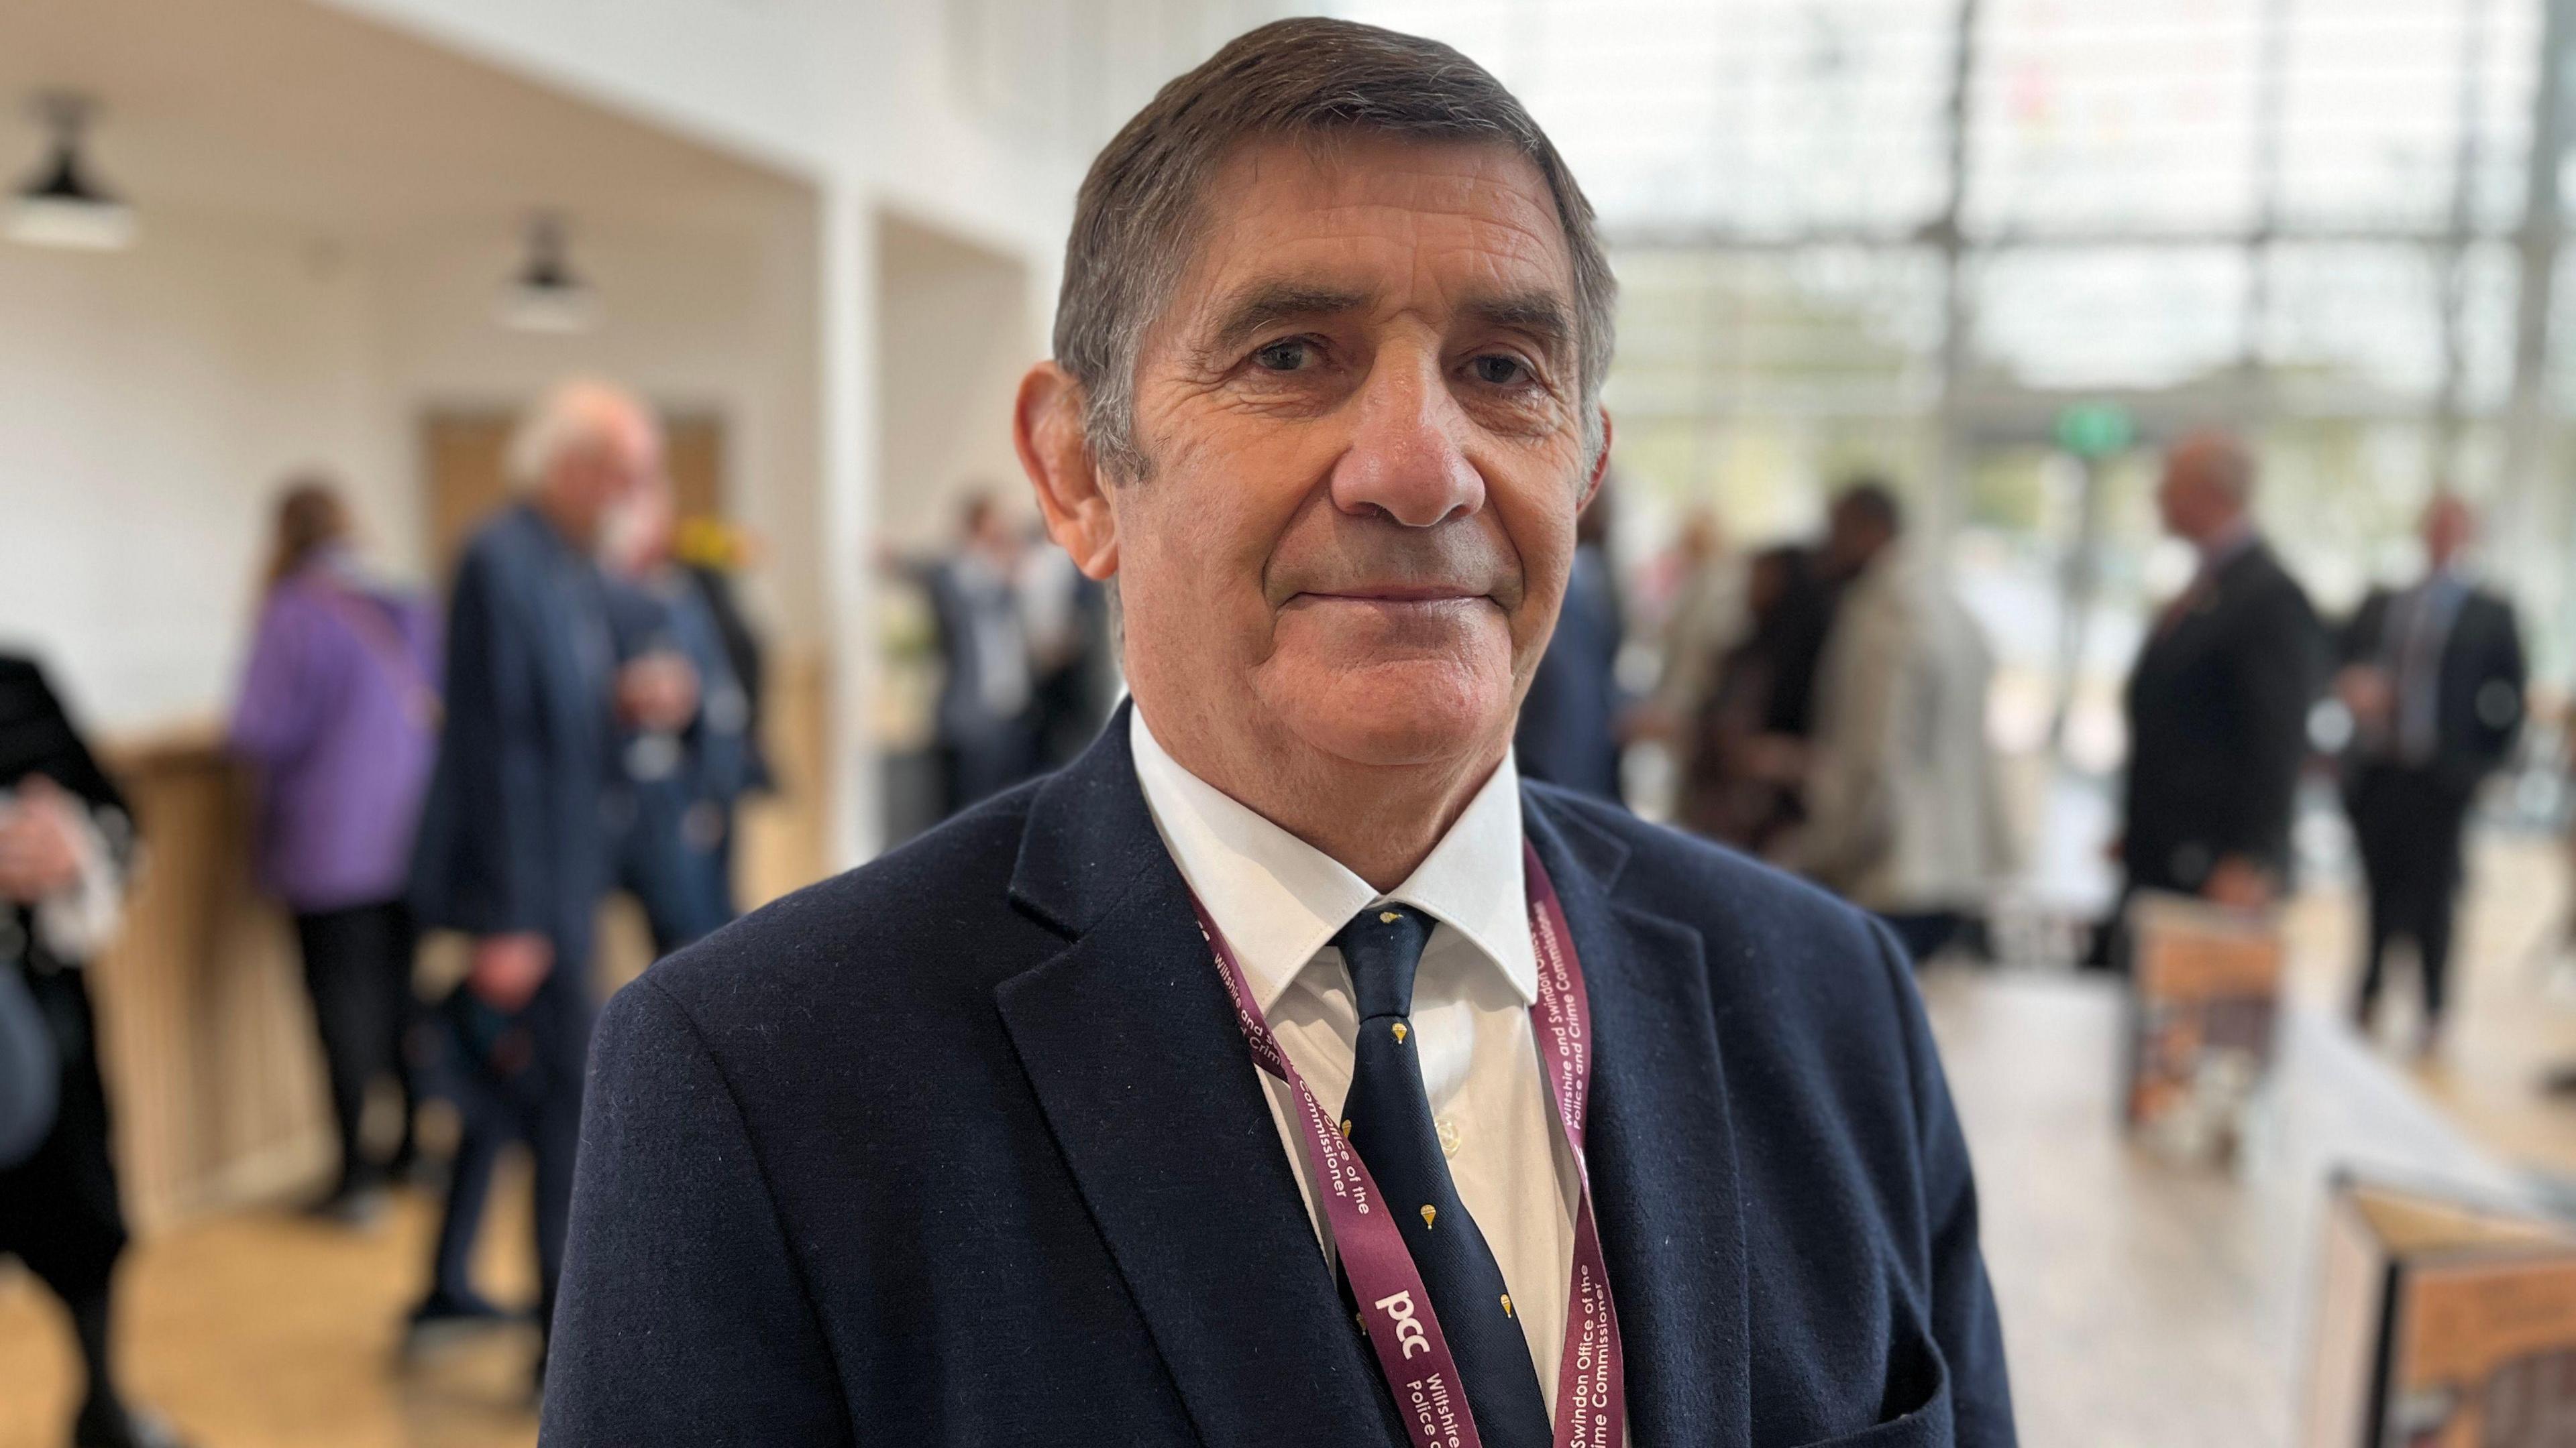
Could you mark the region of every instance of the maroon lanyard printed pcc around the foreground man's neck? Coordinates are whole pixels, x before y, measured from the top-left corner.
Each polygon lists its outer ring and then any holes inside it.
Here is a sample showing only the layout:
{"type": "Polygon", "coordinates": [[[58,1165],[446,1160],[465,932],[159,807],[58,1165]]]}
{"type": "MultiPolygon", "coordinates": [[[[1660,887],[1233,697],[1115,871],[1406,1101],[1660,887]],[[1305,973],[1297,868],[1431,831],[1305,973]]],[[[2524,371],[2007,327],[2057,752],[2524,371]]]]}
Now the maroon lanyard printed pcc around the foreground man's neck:
{"type": "MultiPolygon", "coordinates": [[[[1592,1092],[1592,1002],[1584,995],[1584,966],[1574,956],[1566,907],[1556,899],[1538,850],[1520,843],[1522,879],[1530,899],[1530,943],[1538,948],[1538,1002],[1530,1005],[1530,1033],[1538,1038],[1540,1072],[1556,1100],[1556,1123],[1574,1157],[1574,1281],[1566,1288],[1566,1342],[1556,1360],[1556,1448],[1620,1448],[1628,1440],[1628,1381],[1618,1340],[1618,1309],[1610,1304],[1610,1270],[1602,1265],[1600,1226],[1592,1221],[1592,1170],[1584,1165],[1584,1110],[1592,1092]]],[[[1396,1219],[1383,1211],[1378,1183],[1360,1152],[1342,1139],[1332,1113],[1288,1062],[1270,1020],[1252,1002],[1244,966],[1234,946],[1190,897],[1198,928],[1216,951],[1226,995],[1234,997],[1234,1023],[1252,1046],[1252,1059],[1296,1092],[1296,1118],[1306,1136],[1306,1162],[1314,1167],[1316,1196],[1332,1221],[1332,1242],[1342,1252],[1342,1273],[1360,1301],[1368,1342],[1396,1396],[1396,1412],[1412,1443],[1422,1448],[1481,1448],[1476,1415],[1468,1412],[1432,1296],[1422,1288],[1414,1255],[1404,1247],[1396,1219]]]]}

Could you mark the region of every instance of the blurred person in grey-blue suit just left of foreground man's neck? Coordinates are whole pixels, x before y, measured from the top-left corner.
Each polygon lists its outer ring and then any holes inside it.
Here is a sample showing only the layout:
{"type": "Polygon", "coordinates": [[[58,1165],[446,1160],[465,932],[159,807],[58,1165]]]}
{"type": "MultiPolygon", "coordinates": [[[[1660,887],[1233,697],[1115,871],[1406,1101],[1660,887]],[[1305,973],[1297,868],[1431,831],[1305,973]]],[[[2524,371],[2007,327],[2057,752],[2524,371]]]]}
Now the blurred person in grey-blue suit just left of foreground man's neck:
{"type": "Polygon", "coordinates": [[[930,595],[945,665],[938,701],[943,814],[1038,770],[1036,678],[1020,613],[1025,546],[1002,502],[976,492],[958,510],[956,551],[904,567],[930,595]]]}

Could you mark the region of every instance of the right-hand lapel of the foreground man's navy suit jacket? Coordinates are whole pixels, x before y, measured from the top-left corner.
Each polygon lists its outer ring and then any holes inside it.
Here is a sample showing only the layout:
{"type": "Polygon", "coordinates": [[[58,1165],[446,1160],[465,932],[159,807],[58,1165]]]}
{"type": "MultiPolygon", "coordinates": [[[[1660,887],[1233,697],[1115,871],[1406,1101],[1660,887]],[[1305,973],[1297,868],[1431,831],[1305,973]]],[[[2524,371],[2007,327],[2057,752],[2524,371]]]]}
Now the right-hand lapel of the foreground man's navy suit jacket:
{"type": "Polygon", "coordinates": [[[1744,1206],[1700,933],[1618,897],[1628,848],[1522,791],[1592,997],[1592,1208],[1636,1443],[1752,1440],[1744,1206]]]}

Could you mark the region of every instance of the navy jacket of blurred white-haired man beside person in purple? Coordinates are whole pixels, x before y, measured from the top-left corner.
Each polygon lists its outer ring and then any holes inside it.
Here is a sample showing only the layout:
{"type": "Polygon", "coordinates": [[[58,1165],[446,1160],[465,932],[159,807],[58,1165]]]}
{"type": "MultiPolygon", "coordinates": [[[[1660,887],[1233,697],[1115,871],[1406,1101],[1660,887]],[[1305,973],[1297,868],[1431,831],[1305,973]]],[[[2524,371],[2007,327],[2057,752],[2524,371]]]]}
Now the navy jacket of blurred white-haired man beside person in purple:
{"type": "MultiPolygon", "coordinates": [[[[422,925],[536,930],[572,964],[608,894],[616,642],[608,585],[528,505],[466,544],[448,600],[448,696],[412,848],[422,925]]],[[[580,969],[559,969],[567,987],[580,969]]]]}

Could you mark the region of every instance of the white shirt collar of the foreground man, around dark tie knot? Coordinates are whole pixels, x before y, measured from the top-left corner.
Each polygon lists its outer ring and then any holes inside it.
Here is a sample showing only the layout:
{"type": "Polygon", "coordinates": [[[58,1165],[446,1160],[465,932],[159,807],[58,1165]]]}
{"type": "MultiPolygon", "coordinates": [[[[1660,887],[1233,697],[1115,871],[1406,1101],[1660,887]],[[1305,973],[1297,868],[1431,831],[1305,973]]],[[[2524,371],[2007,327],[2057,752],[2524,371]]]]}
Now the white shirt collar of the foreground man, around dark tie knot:
{"type": "Polygon", "coordinates": [[[1370,904],[1432,912],[1504,974],[1522,1002],[1538,1000],[1528,891],[1520,873],[1520,770],[1504,752],[1476,799],[1396,889],[1378,894],[1340,861],[1193,776],[1131,711],[1128,752],[1154,830],[1198,902],[1226,933],[1262,1010],[1316,951],[1370,904]]]}

